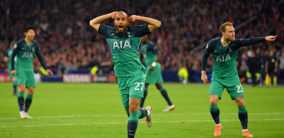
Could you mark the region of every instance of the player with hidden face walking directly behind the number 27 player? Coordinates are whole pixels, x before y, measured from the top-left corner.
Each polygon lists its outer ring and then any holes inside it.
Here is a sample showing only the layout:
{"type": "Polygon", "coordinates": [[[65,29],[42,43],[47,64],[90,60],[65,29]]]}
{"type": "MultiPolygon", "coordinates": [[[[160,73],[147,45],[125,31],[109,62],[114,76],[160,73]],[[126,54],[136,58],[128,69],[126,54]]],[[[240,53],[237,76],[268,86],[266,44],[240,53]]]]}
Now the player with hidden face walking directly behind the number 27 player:
{"type": "Polygon", "coordinates": [[[168,107],[164,109],[163,111],[172,111],[176,107],[172,102],[170,101],[170,98],[167,94],[167,91],[162,85],[162,82],[164,82],[162,77],[162,70],[161,65],[158,62],[161,58],[161,52],[157,48],[157,46],[148,40],[148,36],[145,35],[141,38],[141,54],[140,54],[140,60],[144,59],[146,64],[146,71],[145,71],[145,88],[144,88],[144,97],[141,100],[140,108],[143,108],[143,104],[145,102],[145,98],[148,93],[148,85],[149,84],[155,84],[156,88],[161,92],[163,97],[166,99],[168,103],[168,107]]]}

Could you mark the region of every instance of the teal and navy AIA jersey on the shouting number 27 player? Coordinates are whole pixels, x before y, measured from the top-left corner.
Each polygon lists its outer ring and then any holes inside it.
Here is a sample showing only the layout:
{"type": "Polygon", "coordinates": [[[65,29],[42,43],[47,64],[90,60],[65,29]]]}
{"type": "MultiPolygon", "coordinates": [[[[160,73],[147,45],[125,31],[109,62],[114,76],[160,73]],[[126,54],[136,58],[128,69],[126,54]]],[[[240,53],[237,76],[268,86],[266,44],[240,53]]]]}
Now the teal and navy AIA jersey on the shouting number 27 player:
{"type": "Polygon", "coordinates": [[[101,24],[98,32],[106,38],[118,77],[144,73],[145,67],[139,60],[139,44],[141,37],[150,33],[148,24],[128,27],[124,34],[117,33],[114,27],[101,24]]]}

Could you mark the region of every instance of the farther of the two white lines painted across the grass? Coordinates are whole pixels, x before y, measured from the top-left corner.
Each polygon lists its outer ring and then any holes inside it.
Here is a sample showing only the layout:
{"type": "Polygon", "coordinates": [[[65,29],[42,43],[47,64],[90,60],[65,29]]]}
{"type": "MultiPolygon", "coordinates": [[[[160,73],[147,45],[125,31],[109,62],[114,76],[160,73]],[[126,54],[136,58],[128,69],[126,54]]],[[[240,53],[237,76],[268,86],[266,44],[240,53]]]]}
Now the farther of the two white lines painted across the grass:
{"type": "MultiPolygon", "coordinates": [[[[235,115],[237,113],[221,113],[221,115],[235,115]]],[[[184,115],[210,115],[210,113],[158,113],[155,116],[184,116],[184,115]]],[[[268,113],[249,113],[249,115],[284,115],[284,112],[268,112],[268,113]]],[[[94,114],[94,115],[62,115],[62,116],[37,116],[34,118],[74,118],[74,117],[109,117],[109,116],[126,116],[126,114],[94,114]]],[[[17,117],[0,118],[0,120],[19,119],[17,117]]]]}

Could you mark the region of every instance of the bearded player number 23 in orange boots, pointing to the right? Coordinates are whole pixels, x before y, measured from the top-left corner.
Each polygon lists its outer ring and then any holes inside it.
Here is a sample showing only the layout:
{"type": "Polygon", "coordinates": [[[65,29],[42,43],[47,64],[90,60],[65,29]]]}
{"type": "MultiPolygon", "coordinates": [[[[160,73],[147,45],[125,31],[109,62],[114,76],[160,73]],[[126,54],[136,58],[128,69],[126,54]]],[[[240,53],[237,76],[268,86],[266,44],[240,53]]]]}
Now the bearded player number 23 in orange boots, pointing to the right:
{"type": "Polygon", "coordinates": [[[212,83],[209,89],[210,112],[215,121],[214,136],[220,136],[223,126],[219,119],[219,108],[217,106],[218,100],[221,99],[222,92],[226,88],[230,94],[231,99],[235,100],[239,108],[239,119],[243,128],[243,136],[253,137],[247,129],[248,114],[244,101],[244,90],[241,85],[237,68],[236,56],[241,46],[248,46],[250,44],[257,44],[263,41],[274,41],[277,36],[254,37],[251,39],[236,39],[235,29],[233,23],[225,22],[220,27],[222,37],[212,39],[206,46],[202,56],[201,79],[204,84],[207,84],[207,75],[205,72],[207,58],[212,53],[214,59],[214,66],[212,71],[212,83]]]}

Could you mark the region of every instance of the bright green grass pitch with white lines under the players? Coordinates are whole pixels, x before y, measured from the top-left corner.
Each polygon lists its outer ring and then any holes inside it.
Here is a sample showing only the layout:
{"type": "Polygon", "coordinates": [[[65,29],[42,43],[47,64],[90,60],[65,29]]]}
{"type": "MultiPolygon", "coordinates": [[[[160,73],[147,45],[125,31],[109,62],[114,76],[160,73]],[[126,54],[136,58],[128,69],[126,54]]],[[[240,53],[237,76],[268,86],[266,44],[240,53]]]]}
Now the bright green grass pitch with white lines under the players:
{"type": "MultiPolygon", "coordinates": [[[[209,85],[165,83],[176,109],[163,112],[166,101],[154,85],[148,88],[145,106],[153,107],[153,126],[140,119],[136,138],[213,137],[209,112],[209,85]]],[[[284,137],[284,86],[243,86],[254,137],[284,137]]],[[[128,117],[117,84],[39,83],[29,115],[20,119],[12,84],[0,83],[0,137],[127,137],[128,117]]],[[[238,108],[224,90],[218,103],[224,127],[220,137],[242,137],[238,108]]]]}

